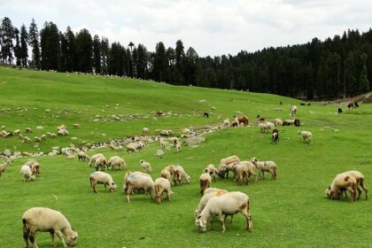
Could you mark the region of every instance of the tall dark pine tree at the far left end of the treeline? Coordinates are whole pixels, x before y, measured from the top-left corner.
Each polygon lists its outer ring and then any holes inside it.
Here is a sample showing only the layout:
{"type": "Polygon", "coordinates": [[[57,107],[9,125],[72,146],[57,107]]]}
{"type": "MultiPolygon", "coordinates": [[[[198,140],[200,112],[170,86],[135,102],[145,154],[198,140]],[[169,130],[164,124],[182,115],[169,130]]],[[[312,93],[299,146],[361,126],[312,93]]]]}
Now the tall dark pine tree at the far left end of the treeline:
{"type": "Polygon", "coordinates": [[[4,17],[0,33],[2,36],[2,46],[1,46],[1,58],[4,62],[12,64],[13,61],[13,39],[15,38],[14,27],[12,26],[11,19],[4,17]]]}

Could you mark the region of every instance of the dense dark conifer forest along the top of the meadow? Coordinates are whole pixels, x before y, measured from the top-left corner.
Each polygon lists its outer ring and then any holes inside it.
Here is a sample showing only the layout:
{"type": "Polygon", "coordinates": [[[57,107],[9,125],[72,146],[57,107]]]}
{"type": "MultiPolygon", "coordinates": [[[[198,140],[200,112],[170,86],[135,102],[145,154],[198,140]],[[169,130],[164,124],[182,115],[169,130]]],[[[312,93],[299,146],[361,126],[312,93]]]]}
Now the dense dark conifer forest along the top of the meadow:
{"type": "Polygon", "coordinates": [[[37,70],[112,74],[174,85],[269,92],[307,100],[353,97],[371,89],[372,29],[347,30],[321,41],[270,47],[236,55],[198,57],[181,40],[175,47],[156,44],[110,43],[105,37],[70,27],[63,32],[53,22],[41,30],[13,27],[4,17],[0,26],[0,62],[37,70]],[[30,55],[30,57],[29,57],[30,55]]]}

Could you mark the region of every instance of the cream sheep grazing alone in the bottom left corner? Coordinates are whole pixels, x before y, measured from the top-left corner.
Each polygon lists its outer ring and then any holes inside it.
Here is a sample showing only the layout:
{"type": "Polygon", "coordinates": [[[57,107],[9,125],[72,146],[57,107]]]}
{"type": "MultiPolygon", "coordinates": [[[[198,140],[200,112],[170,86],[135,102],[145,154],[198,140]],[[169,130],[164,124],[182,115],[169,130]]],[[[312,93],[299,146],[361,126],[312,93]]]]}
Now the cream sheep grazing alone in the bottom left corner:
{"type": "Polygon", "coordinates": [[[64,247],[67,247],[67,244],[63,236],[66,237],[67,243],[71,246],[74,246],[78,239],[78,233],[71,227],[65,215],[50,208],[33,207],[28,209],[23,213],[22,223],[26,248],[28,247],[28,240],[35,248],[38,247],[35,241],[35,235],[38,231],[50,232],[53,247],[57,247],[54,241],[55,233],[62,241],[64,247]]]}

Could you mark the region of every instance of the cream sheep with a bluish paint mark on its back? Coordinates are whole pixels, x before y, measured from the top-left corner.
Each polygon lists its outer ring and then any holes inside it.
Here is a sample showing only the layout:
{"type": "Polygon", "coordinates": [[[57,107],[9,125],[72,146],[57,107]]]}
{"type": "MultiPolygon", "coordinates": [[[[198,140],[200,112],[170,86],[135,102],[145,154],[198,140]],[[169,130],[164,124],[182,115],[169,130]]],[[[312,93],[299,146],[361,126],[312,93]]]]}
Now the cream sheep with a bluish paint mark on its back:
{"type": "Polygon", "coordinates": [[[152,198],[151,192],[155,191],[155,185],[150,175],[127,173],[123,190],[127,192],[127,200],[130,203],[129,195],[134,190],[144,190],[146,198],[148,195],[152,198]]]}

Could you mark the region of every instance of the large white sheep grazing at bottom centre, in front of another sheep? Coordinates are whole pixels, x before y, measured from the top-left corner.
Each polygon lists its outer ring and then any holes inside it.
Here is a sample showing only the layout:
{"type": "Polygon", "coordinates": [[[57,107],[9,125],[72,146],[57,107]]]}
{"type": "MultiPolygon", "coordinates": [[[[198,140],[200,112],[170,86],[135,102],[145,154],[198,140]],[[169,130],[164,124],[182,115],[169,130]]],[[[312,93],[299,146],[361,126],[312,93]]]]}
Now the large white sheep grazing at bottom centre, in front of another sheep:
{"type": "Polygon", "coordinates": [[[226,231],[226,215],[234,215],[236,213],[242,213],[244,215],[247,222],[246,229],[252,232],[252,216],[249,213],[249,198],[246,194],[239,191],[228,192],[220,197],[209,199],[203,211],[198,215],[195,223],[198,229],[206,231],[208,222],[212,221],[213,217],[218,215],[221,221],[221,232],[223,233],[226,231]]]}

